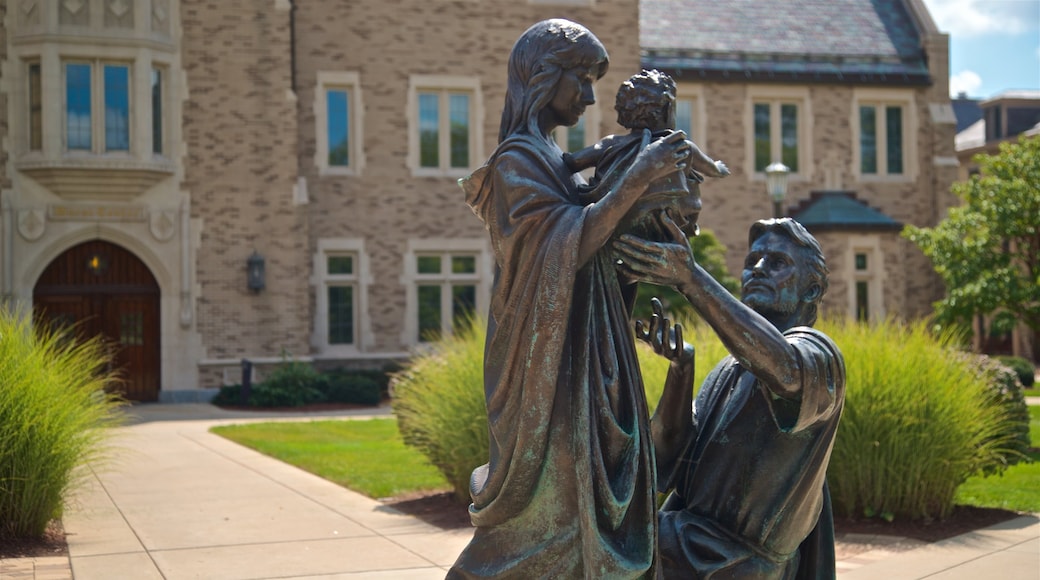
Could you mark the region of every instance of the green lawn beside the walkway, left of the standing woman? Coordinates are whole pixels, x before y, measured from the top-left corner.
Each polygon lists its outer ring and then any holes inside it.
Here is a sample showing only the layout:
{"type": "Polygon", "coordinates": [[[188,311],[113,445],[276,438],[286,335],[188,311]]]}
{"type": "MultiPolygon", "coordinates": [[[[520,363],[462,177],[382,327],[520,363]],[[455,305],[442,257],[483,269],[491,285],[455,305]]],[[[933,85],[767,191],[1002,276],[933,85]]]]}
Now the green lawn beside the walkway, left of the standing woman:
{"type": "Polygon", "coordinates": [[[405,446],[393,419],[251,423],[212,430],[370,498],[450,490],[425,457],[405,446]]]}

